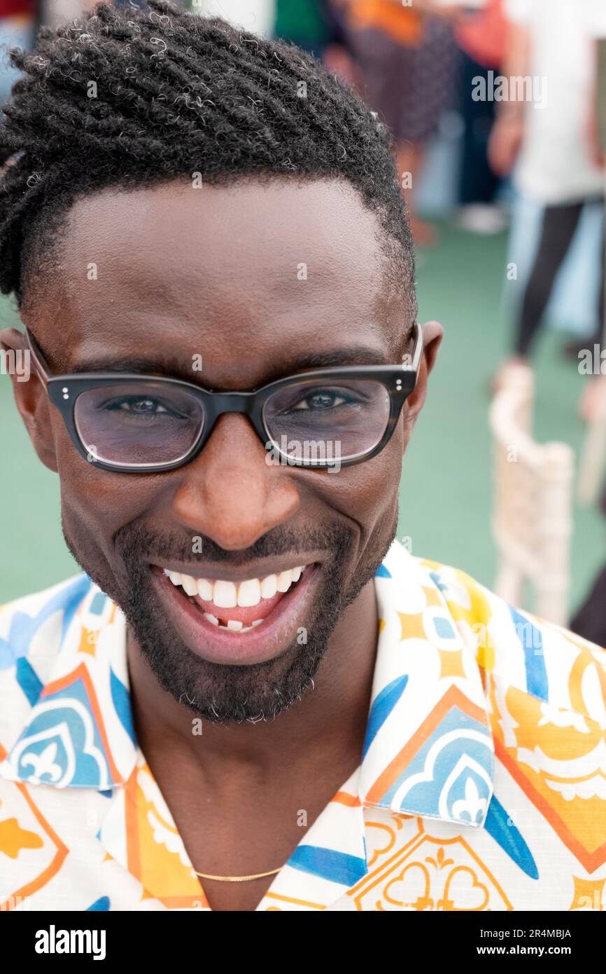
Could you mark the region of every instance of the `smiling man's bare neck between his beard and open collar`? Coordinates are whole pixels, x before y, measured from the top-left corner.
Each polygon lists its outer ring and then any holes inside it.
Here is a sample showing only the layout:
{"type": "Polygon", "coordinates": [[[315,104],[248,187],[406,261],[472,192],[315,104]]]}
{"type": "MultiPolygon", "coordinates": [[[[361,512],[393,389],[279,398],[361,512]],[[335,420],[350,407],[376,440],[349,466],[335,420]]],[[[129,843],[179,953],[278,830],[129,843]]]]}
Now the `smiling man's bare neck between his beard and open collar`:
{"type": "Polygon", "coordinates": [[[187,764],[208,777],[229,768],[294,768],[298,761],[332,761],[362,750],[371,702],[377,610],[373,581],[342,613],[314,677],[313,689],[269,722],[214,725],[192,733],[192,711],[158,683],[129,631],[127,660],[133,717],[148,762],[187,764]],[[203,747],[200,741],[203,740],[203,747]]]}

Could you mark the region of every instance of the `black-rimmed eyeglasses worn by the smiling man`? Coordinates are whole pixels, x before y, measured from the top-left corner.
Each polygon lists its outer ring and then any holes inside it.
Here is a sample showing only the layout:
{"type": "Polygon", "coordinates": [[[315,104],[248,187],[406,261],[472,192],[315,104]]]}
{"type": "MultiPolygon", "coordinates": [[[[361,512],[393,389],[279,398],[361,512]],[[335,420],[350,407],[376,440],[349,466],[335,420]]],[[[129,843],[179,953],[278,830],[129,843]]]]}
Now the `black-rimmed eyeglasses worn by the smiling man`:
{"type": "Polygon", "coordinates": [[[97,467],[159,473],[196,458],[217,419],[243,413],[277,463],[339,468],[370,460],[388,442],[413,391],[423,351],[414,325],[410,360],[314,369],[252,392],[213,393],[157,375],[56,375],[26,331],[36,371],[77,450],[97,467]]]}

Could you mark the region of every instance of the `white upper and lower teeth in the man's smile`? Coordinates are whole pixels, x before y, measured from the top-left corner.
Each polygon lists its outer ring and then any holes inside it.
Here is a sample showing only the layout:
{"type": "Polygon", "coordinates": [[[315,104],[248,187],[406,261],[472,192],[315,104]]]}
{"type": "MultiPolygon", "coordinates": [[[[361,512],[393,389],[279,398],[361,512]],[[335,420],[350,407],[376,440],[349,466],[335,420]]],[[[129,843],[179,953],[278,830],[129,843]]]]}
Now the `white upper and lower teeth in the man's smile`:
{"type": "MultiPolygon", "coordinates": [[[[233,581],[218,580],[213,582],[208,579],[195,579],[191,575],[171,572],[167,568],[164,569],[164,575],[168,576],[173,585],[183,588],[186,595],[190,597],[197,595],[205,602],[213,602],[217,609],[235,609],[236,606],[241,609],[252,609],[262,599],[273,598],[276,592],[286,593],[295,581],[300,580],[304,568],[305,566],[302,565],[298,568],[287,569],[278,575],[267,575],[265,579],[247,579],[238,584],[233,581]]],[[[210,614],[205,613],[204,615],[216,618],[210,614]]],[[[235,632],[236,624],[241,623],[237,623],[235,619],[230,621],[232,621],[232,631],[235,632]]],[[[218,624],[219,621],[217,620],[218,624]]],[[[253,625],[255,624],[253,622],[253,625]]],[[[246,629],[250,628],[252,626],[246,627],[246,629]]]]}

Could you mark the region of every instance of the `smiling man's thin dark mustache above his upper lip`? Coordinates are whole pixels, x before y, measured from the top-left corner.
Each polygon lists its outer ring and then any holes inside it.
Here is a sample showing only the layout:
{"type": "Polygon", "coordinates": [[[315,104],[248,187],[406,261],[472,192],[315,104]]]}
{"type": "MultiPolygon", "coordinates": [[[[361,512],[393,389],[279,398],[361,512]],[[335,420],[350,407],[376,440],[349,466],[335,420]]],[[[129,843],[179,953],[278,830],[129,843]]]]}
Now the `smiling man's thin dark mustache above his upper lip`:
{"type": "Polygon", "coordinates": [[[205,535],[184,535],[177,531],[160,531],[142,523],[129,523],[114,535],[114,545],[126,566],[137,566],[149,560],[191,562],[194,560],[223,563],[233,568],[257,558],[267,558],[297,551],[328,551],[334,559],[354,543],[355,532],[345,524],[301,529],[277,526],[247,548],[228,551],[205,535]]]}

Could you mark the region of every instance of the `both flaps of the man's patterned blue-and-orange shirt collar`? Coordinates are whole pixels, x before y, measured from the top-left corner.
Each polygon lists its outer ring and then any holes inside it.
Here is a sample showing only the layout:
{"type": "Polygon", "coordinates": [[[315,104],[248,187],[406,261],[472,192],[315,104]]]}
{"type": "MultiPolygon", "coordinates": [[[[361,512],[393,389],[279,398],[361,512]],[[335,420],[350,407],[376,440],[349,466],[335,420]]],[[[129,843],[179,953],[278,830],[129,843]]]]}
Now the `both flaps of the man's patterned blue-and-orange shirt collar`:
{"type": "MultiPolygon", "coordinates": [[[[469,595],[448,573],[397,542],[376,573],[379,632],[359,801],[481,826],[494,749],[474,648],[445,591],[463,611],[469,595]]],[[[87,576],[53,589],[51,604],[36,609],[13,620],[27,642],[16,678],[33,705],[0,774],[57,788],[124,786],[139,754],[124,615],[87,576]],[[55,654],[45,681],[30,661],[43,652],[55,654]]]]}

